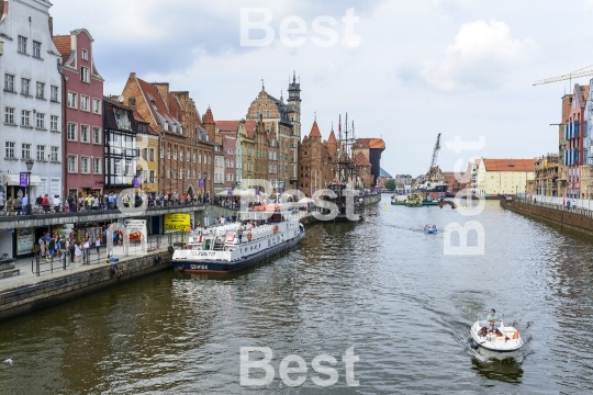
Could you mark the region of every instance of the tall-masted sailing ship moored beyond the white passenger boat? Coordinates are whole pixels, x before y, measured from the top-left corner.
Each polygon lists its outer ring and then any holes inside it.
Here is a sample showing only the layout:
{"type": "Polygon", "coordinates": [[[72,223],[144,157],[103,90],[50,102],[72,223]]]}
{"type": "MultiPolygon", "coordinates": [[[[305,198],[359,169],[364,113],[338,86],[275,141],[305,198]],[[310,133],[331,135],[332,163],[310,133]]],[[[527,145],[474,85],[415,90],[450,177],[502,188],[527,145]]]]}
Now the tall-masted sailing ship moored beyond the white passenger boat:
{"type": "Polygon", "coordinates": [[[334,167],[334,182],[327,185],[336,196],[323,196],[324,201],[334,203],[337,207],[337,213],[332,213],[329,210],[322,208],[322,214],[327,214],[335,223],[357,222],[365,216],[365,202],[361,196],[358,196],[358,191],[355,187],[358,180],[357,167],[354,162],[353,146],[356,143],[354,121],[351,128],[348,126],[348,113],[346,113],[346,126],[342,132],[342,115],[338,122],[338,153],[337,160],[334,167]]]}

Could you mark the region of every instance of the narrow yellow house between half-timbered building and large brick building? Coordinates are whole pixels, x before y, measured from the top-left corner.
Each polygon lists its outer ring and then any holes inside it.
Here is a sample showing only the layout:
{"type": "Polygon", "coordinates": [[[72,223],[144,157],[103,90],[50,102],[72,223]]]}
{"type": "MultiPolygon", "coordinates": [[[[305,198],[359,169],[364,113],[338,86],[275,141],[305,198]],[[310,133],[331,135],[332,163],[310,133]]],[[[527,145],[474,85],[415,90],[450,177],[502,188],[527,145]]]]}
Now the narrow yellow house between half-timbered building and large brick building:
{"type": "Polygon", "coordinates": [[[136,111],[134,111],[134,120],[138,124],[136,147],[138,148],[139,156],[136,165],[136,174],[141,177],[142,190],[144,192],[158,193],[159,136],[136,111]]]}

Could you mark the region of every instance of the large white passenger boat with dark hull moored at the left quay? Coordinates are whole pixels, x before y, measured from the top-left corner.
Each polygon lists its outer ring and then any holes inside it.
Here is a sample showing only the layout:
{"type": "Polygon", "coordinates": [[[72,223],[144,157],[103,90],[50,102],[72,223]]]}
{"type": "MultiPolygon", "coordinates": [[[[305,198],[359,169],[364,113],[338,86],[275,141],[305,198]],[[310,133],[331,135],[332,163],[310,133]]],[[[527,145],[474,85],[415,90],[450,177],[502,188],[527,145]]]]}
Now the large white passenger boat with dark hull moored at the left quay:
{"type": "MultiPolygon", "coordinates": [[[[277,217],[280,215],[272,219],[277,217]]],[[[188,273],[234,272],[287,252],[304,234],[303,225],[292,218],[259,226],[234,223],[194,230],[186,247],[174,251],[172,266],[175,271],[188,273]]]]}

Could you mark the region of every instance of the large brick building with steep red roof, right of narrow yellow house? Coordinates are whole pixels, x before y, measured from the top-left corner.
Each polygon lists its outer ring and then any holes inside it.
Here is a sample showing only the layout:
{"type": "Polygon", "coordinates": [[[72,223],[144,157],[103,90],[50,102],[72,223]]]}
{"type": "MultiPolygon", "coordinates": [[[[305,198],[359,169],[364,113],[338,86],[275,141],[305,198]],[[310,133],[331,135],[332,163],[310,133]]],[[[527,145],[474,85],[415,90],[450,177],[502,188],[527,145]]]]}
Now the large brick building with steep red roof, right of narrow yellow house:
{"type": "Polygon", "coordinates": [[[169,83],[148,83],[131,72],[122,97],[160,136],[160,192],[211,195],[213,143],[202,127],[200,114],[189,93],[170,92],[169,83]]]}

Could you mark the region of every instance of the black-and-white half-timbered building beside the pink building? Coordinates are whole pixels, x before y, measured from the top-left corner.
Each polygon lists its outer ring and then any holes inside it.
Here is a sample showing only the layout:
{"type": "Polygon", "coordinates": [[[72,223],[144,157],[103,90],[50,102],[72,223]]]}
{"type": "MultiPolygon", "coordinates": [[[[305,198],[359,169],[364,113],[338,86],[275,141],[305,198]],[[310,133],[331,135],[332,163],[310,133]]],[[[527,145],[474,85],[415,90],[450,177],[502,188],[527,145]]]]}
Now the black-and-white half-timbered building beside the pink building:
{"type": "Polygon", "coordinates": [[[123,100],[103,97],[104,193],[139,187],[134,185],[138,176],[136,135],[139,125],[134,119],[134,110],[124,105],[123,100]]]}

